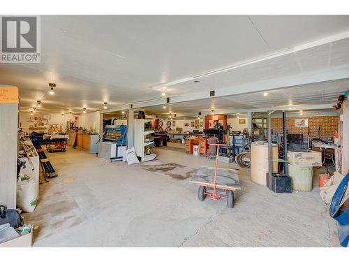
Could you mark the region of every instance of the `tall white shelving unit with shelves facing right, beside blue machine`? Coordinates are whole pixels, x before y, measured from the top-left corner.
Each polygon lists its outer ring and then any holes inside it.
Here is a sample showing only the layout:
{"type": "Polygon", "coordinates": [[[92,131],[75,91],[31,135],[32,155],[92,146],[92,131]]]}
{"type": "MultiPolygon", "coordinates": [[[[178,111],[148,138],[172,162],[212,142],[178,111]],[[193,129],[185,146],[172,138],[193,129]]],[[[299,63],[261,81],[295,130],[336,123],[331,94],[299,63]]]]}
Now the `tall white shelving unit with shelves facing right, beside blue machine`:
{"type": "Polygon", "coordinates": [[[151,119],[135,119],[135,152],[141,162],[151,161],[156,158],[156,154],[145,154],[145,147],[154,145],[154,140],[147,141],[145,136],[154,133],[154,129],[146,129],[145,124],[151,122],[151,119]]]}

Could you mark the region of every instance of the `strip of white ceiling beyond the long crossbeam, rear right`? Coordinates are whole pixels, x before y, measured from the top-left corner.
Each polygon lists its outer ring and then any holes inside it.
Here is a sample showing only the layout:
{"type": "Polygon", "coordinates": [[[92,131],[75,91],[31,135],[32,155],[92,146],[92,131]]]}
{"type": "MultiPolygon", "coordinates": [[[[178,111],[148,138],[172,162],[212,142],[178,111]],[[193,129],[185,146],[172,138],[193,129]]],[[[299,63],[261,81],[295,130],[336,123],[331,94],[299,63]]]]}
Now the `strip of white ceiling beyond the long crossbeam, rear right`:
{"type": "Polygon", "coordinates": [[[141,108],[154,115],[163,115],[172,113],[210,112],[214,109],[216,112],[225,112],[229,109],[253,110],[260,108],[283,107],[288,110],[291,107],[306,107],[305,105],[323,105],[335,104],[339,94],[343,94],[349,89],[349,79],[322,82],[301,87],[290,87],[276,90],[269,90],[267,96],[264,92],[255,92],[248,94],[239,94],[234,96],[225,96],[214,99],[202,99],[182,103],[172,103],[163,108],[163,105],[156,105],[147,108],[141,108]]]}

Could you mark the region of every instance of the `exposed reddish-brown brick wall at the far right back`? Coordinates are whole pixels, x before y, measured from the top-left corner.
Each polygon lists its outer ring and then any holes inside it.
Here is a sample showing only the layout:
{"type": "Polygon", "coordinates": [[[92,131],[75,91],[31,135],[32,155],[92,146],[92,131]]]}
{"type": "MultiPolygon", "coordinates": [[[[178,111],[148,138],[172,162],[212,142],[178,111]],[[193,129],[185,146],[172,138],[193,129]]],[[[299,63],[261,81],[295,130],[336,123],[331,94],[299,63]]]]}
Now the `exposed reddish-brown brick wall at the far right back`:
{"type": "MultiPolygon", "coordinates": [[[[318,138],[318,129],[320,126],[321,138],[334,137],[334,133],[338,131],[338,116],[318,116],[318,117],[287,117],[288,133],[302,133],[304,140],[308,137],[308,128],[295,127],[295,119],[308,119],[311,138],[318,138]]],[[[282,117],[272,118],[272,131],[274,133],[282,133],[282,117]]]]}

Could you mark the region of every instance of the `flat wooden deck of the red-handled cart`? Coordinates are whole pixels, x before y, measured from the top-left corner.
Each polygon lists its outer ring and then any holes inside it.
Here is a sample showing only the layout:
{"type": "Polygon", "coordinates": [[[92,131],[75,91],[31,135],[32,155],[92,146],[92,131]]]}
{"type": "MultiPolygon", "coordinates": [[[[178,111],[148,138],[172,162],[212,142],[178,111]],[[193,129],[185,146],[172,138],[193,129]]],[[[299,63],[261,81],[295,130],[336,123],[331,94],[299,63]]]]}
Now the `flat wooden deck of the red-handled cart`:
{"type": "MultiPolygon", "coordinates": [[[[198,172],[189,180],[191,183],[203,184],[213,187],[214,184],[214,168],[199,168],[198,172]]],[[[217,169],[216,187],[219,189],[241,190],[239,175],[234,169],[217,169]]]]}

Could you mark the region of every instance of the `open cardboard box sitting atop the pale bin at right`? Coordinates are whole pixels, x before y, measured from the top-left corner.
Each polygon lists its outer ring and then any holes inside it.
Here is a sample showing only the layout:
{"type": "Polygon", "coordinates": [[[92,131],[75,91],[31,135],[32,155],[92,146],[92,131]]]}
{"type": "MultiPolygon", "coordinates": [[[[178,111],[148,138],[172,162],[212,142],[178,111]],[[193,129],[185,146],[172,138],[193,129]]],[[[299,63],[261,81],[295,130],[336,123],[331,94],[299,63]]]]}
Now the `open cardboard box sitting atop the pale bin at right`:
{"type": "Polygon", "coordinates": [[[321,152],[287,152],[287,160],[292,165],[299,166],[322,166],[321,152]]]}

